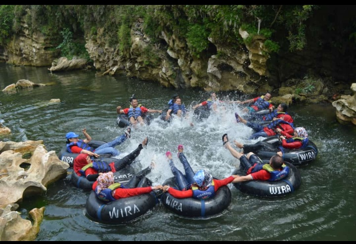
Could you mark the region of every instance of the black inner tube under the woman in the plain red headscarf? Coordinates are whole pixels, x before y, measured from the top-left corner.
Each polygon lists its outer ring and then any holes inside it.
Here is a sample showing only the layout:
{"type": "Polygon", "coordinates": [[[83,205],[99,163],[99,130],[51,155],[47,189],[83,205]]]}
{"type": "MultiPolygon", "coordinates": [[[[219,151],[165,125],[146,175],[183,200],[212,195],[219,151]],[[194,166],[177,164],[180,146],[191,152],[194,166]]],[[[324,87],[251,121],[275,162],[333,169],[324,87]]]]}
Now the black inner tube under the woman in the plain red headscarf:
{"type": "MultiPolygon", "coordinates": [[[[112,159],[112,160],[117,160],[117,159],[112,159]]],[[[112,160],[107,163],[113,162],[112,160]]],[[[116,171],[114,173],[114,181],[120,183],[126,183],[134,176],[134,174],[135,174],[134,168],[131,165],[128,165],[125,168],[116,171]]],[[[94,184],[94,181],[89,181],[87,177],[79,176],[74,171],[71,174],[70,181],[77,188],[81,188],[84,190],[91,190],[92,184],[94,184]]]]}

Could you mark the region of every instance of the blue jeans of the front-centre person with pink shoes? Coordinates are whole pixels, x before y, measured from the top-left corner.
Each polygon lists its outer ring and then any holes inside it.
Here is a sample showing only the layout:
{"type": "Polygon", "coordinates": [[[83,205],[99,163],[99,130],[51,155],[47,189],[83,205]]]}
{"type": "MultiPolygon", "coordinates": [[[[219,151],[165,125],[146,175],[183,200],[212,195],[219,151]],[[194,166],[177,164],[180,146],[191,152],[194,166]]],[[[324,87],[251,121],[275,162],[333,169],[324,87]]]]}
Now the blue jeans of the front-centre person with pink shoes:
{"type": "Polygon", "coordinates": [[[178,155],[180,162],[183,164],[185,175],[173,163],[173,160],[170,160],[170,166],[172,173],[174,174],[176,181],[178,183],[179,190],[185,191],[190,188],[190,185],[195,182],[194,180],[194,171],[188,163],[183,153],[178,155]]]}

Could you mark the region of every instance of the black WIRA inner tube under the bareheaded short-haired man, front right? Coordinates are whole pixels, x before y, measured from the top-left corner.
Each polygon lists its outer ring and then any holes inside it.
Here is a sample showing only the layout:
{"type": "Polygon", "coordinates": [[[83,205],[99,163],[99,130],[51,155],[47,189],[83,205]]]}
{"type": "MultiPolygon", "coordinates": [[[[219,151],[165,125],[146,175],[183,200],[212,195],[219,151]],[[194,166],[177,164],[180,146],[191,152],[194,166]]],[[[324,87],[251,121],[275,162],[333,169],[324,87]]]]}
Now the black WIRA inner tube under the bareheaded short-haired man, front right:
{"type": "MultiPolygon", "coordinates": [[[[300,187],[302,177],[296,166],[287,162],[285,164],[290,167],[290,170],[284,179],[278,181],[249,180],[232,184],[241,192],[258,197],[275,198],[289,195],[300,187]]],[[[245,175],[239,169],[235,169],[232,174],[245,175]]]]}

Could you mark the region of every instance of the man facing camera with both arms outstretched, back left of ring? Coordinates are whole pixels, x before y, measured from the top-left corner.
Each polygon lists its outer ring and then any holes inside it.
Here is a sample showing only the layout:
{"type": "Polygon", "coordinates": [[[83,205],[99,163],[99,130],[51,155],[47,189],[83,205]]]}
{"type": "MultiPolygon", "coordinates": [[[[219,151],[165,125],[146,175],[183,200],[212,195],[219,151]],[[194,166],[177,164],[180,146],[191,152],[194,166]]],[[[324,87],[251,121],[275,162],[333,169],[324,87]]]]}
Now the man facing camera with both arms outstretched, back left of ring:
{"type": "Polygon", "coordinates": [[[143,118],[146,113],[162,113],[162,110],[147,109],[141,104],[138,105],[138,100],[135,97],[130,98],[131,106],[130,108],[122,109],[121,106],[116,107],[116,112],[118,114],[126,114],[132,125],[139,122],[141,125],[144,124],[143,118]]]}

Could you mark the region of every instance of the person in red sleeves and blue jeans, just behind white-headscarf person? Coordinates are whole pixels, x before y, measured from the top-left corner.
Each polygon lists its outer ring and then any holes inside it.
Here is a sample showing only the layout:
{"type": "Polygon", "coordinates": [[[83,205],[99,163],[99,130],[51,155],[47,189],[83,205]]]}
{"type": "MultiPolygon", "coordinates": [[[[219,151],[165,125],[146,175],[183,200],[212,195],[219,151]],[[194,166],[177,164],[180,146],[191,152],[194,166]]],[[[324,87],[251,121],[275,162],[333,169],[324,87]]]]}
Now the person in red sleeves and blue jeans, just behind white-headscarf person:
{"type": "Polygon", "coordinates": [[[252,128],[255,133],[253,133],[249,139],[257,139],[260,136],[267,137],[276,134],[287,136],[293,135],[294,128],[293,128],[293,119],[290,115],[284,114],[280,118],[273,118],[272,122],[263,126],[259,123],[249,122],[245,119],[242,119],[237,113],[235,113],[236,122],[242,122],[252,128]]]}

